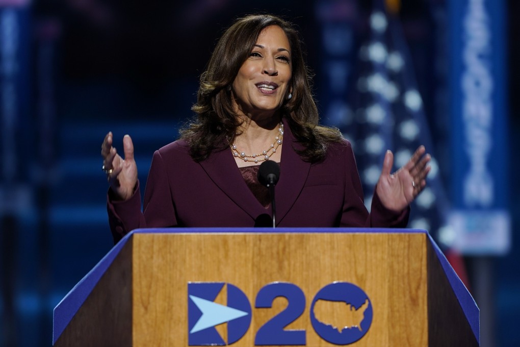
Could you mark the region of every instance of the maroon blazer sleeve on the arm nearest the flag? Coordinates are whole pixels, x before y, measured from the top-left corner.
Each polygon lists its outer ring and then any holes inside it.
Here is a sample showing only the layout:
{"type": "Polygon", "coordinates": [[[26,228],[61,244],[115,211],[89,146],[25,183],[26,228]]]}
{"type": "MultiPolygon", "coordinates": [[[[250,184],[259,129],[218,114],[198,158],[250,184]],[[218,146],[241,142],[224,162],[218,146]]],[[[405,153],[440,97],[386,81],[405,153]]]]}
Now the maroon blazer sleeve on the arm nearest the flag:
{"type": "Polygon", "coordinates": [[[384,207],[374,189],[371,212],[363,201],[363,188],[357,170],[356,159],[350,143],[344,147],[345,198],[340,221],[341,227],[406,228],[410,207],[400,212],[384,207]]]}

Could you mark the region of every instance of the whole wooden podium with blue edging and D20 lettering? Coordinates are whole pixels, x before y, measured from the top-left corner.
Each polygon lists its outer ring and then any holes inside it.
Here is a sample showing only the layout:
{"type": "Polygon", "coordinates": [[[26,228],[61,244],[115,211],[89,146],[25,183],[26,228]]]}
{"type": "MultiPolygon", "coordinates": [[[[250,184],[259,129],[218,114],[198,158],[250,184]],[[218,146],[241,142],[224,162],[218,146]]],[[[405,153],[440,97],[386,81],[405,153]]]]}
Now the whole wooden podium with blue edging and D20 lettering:
{"type": "Polygon", "coordinates": [[[53,344],[478,346],[478,315],[424,230],[139,229],[56,306],[53,344]]]}

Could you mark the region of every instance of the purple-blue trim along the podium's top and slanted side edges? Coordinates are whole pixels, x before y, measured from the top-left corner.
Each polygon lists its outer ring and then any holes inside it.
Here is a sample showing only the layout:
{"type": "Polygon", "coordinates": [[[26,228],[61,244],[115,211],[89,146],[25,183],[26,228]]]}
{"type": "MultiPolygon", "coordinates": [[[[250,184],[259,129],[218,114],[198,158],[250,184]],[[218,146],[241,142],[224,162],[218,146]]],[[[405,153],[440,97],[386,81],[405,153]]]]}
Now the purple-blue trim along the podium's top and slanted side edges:
{"type": "Polygon", "coordinates": [[[161,229],[136,229],[128,233],[121,241],[115,245],[110,252],[107,253],[99,261],[99,263],[78,282],[77,285],[60,301],[54,309],[54,326],[53,326],[53,345],[56,343],[61,333],[72,320],[72,317],[80,309],[85,302],[90,292],[94,289],[97,282],[101,279],[108,267],[112,264],[115,257],[119,254],[123,246],[133,234],[146,233],[164,233],[164,234],[194,234],[194,233],[210,233],[210,234],[229,234],[229,233],[252,233],[252,234],[274,234],[274,233],[406,233],[406,234],[426,234],[432,241],[437,257],[443,266],[444,272],[448,277],[453,291],[466,315],[466,319],[470,323],[471,329],[477,341],[480,341],[480,326],[479,326],[479,310],[462,284],[453,268],[448,263],[446,256],[440,251],[437,244],[434,242],[430,234],[426,230],[420,229],[359,229],[359,228],[161,228],[161,229]]]}

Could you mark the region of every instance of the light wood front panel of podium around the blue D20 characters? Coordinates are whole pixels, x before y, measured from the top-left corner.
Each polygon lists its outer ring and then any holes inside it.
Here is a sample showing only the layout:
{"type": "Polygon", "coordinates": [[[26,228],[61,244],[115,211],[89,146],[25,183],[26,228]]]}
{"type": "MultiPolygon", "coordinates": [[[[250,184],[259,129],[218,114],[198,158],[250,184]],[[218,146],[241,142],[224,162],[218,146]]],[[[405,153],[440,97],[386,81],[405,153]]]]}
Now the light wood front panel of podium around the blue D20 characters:
{"type": "MultiPolygon", "coordinates": [[[[305,329],[307,345],[317,347],[334,344],[322,340],[310,323],[314,295],[334,281],[351,282],[373,307],[369,331],[351,345],[428,343],[424,234],[135,234],[133,257],[134,346],[188,345],[190,281],[233,284],[252,306],[270,282],[297,285],[306,308],[287,329],[305,329]]],[[[254,345],[258,328],[285,305],[287,300],[278,298],[271,309],[253,308],[250,329],[233,345],[254,345]]]]}

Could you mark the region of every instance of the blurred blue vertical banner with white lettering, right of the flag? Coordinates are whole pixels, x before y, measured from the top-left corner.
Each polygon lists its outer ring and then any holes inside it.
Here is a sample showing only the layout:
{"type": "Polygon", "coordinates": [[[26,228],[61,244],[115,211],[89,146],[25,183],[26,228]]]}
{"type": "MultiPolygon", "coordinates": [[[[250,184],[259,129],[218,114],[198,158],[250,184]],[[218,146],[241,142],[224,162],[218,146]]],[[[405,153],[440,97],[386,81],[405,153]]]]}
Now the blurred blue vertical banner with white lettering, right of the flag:
{"type": "Polygon", "coordinates": [[[446,229],[464,254],[510,248],[503,0],[451,0],[452,177],[446,229]]]}

